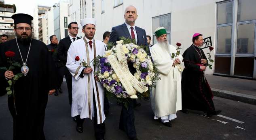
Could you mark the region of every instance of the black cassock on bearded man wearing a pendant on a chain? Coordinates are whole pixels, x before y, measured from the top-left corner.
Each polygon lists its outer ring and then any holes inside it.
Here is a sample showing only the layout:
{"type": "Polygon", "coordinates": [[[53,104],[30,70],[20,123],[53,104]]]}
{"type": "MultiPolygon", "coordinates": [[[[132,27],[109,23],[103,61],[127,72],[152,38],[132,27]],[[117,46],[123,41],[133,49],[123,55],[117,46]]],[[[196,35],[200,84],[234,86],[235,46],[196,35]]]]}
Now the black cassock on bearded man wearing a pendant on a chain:
{"type": "MultiPolygon", "coordinates": [[[[18,41],[19,48],[25,62],[30,42],[23,44],[18,41]]],[[[21,56],[17,47],[16,39],[5,42],[1,47],[0,67],[7,66],[4,52],[13,51],[13,60],[22,65],[21,56]]],[[[13,95],[8,96],[8,107],[13,117],[13,139],[44,140],[44,113],[47,106],[48,92],[55,89],[55,66],[46,45],[32,39],[27,66],[29,72],[20,77],[14,86],[15,106],[13,95]]],[[[3,70],[0,77],[4,78],[3,70]]],[[[21,73],[21,68],[13,70],[13,73],[21,73]]],[[[7,82],[7,80],[5,80],[7,82]]]]}

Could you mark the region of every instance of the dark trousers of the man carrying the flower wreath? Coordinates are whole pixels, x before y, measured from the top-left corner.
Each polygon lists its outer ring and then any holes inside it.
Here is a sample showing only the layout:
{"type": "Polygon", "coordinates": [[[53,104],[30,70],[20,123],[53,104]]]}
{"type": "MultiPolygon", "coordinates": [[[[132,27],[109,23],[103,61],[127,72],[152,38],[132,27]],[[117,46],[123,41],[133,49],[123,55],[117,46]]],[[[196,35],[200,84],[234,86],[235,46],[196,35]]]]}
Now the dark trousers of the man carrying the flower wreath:
{"type": "Polygon", "coordinates": [[[125,108],[124,104],[122,104],[122,111],[120,115],[119,121],[119,129],[126,132],[127,136],[132,139],[137,136],[134,121],[134,112],[133,112],[133,105],[135,99],[131,99],[128,104],[128,109],[125,108]]]}

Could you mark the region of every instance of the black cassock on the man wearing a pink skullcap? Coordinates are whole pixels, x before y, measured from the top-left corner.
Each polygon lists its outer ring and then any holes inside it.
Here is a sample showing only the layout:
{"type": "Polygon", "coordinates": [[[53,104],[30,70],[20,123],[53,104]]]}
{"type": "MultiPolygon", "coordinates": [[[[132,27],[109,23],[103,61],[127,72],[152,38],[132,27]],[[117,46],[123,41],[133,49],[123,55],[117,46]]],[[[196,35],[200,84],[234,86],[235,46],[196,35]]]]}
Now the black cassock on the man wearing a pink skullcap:
{"type": "MultiPolygon", "coordinates": [[[[203,50],[193,44],[183,53],[185,69],[182,72],[182,108],[212,113],[215,111],[212,90],[200,71],[203,50]],[[201,57],[200,57],[201,56],[201,57]]],[[[207,64],[205,64],[207,66],[207,64]]]]}

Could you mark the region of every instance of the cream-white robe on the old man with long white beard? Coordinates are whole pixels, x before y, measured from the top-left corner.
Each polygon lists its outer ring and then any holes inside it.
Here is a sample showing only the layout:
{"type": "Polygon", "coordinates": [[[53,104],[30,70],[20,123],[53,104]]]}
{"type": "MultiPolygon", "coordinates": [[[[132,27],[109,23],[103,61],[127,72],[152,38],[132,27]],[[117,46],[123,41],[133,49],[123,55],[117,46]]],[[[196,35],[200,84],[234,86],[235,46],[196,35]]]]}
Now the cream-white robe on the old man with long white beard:
{"type": "MultiPolygon", "coordinates": [[[[156,88],[152,88],[151,106],[156,117],[161,119],[176,118],[176,111],[181,110],[181,71],[182,66],[172,66],[172,53],[176,53],[176,47],[169,45],[168,48],[155,44],[150,50],[154,64],[159,69],[161,79],[156,81],[156,88]],[[178,69],[179,68],[179,69],[178,69]],[[174,77],[173,77],[174,69],[174,77]],[[174,115],[174,118],[173,116],[174,115]],[[163,118],[162,118],[163,117],[163,118]]],[[[177,56],[182,63],[182,56],[177,56]]]]}

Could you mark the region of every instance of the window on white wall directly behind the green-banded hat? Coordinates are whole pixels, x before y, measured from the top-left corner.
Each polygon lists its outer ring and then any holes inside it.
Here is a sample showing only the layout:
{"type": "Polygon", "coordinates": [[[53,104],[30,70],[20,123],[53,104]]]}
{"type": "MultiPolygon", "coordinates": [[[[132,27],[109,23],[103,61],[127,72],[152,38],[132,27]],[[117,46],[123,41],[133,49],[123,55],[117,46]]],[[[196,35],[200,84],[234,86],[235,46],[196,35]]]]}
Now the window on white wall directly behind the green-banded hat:
{"type": "Polygon", "coordinates": [[[161,15],[158,17],[153,17],[153,44],[157,43],[157,38],[154,36],[154,31],[158,27],[165,27],[167,32],[167,40],[171,43],[171,14],[161,15]]]}

